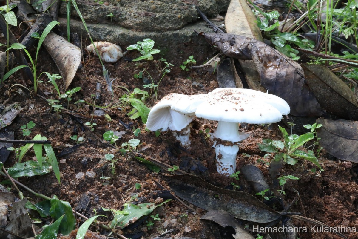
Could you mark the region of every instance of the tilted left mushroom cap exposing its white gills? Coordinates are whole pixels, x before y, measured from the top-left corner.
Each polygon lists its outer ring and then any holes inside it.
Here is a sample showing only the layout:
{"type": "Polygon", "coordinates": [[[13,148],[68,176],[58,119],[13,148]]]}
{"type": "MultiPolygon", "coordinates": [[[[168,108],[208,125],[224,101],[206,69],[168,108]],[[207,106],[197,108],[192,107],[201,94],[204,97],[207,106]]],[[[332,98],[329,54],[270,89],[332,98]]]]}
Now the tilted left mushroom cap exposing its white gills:
{"type": "Polygon", "coordinates": [[[147,128],[151,131],[158,129],[161,131],[168,129],[180,131],[188,126],[193,115],[181,114],[170,109],[173,104],[187,97],[187,95],[171,93],[161,99],[149,112],[147,128]]]}

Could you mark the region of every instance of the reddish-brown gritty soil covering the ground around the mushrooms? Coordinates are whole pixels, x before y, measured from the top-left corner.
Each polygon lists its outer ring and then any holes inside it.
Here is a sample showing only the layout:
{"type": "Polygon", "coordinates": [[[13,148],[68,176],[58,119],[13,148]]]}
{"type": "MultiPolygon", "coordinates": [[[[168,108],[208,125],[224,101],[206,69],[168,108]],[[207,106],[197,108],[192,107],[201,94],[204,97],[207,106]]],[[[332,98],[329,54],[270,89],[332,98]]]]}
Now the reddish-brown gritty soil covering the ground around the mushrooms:
{"type": "MultiPolygon", "coordinates": [[[[83,44],[84,46],[86,44],[83,44]]],[[[126,46],[124,46],[126,47],[126,46]]],[[[96,83],[102,82],[101,100],[96,104],[100,106],[111,105],[111,93],[107,89],[107,85],[103,82],[102,67],[99,61],[93,55],[84,56],[84,67],[78,70],[76,77],[72,81],[69,89],[74,87],[82,87],[82,90],[73,96],[70,109],[76,113],[85,115],[83,122],[89,121],[92,114],[92,106],[83,104],[81,108],[73,105],[73,102],[78,99],[84,99],[91,102],[91,95],[96,94],[96,83]]],[[[136,52],[130,52],[126,59],[137,57],[136,52]]],[[[208,56],[210,57],[210,56],[208,56]]],[[[195,56],[194,56],[195,58],[195,56]]],[[[183,59],[184,61],[184,59],[183,59]]],[[[201,62],[200,62],[201,63],[201,62]]],[[[39,57],[39,72],[48,71],[50,73],[57,73],[56,67],[52,60],[44,51],[40,52],[39,57]]],[[[133,76],[142,68],[146,68],[155,82],[158,82],[159,74],[157,67],[163,67],[160,61],[151,62],[131,62],[122,58],[114,64],[106,64],[106,67],[111,73],[111,77],[117,77],[113,82],[114,97],[113,103],[118,102],[118,99],[126,93],[121,87],[126,87],[131,92],[135,87],[143,88],[142,79],[135,79],[133,76]]],[[[202,94],[207,93],[211,89],[216,88],[215,83],[216,74],[213,74],[213,68],[201,68],[199,70],[181,71],[178,66],[174,66],[170,73],[168,73],[160,83],[158,91],[158,100],[163,96],[171,93],[181,94],[202,94]],[[194,83],[195,82],[195,83],[194,83]]],[[[147,77],[147,76],[146,76],[147,77]]],[[[44,79],[45,80],[45,79],[44,79]]],[[[79,199],[82,195],[87,194],[91,197],[92,208],[101,211],[101,207],[121,210],[122,206],[129,201],[131,195],[139,193],[139,196],[145,197],[142,202],[153,202],[154,190],[159,190],[159,183],[164,188],[169,188],[165,178],[162,177],[162,172],[151,172],[146,166],[142,165],[132,154],[126,157],[121,156],[116,150],[103,141],[102,134],[107,130],[117,132],[125,132],[117,141],[117,145],[127,142],[129,139],[140,139],[141,145],[137,150],[147,156],[157,159],[158,161],[170,165],[183,165],[183,159],[190,158],[195,162],[207,167],[203,172],[193,168],[193,164],[189,161],[188,165],[181,166],[180,169],[198,175],[219,187],[226,187],[230,182],[234,182],[232,178],[226,178],[216,173],[215,153],[211,148],[212,142],[205,139],[204,134],[200,130],[206,128],[213,131],[216,128],[216,122],[206,121],[202,119],[195,119],[191,129],[192,144],[187,150],[183,150],[177,143],[170,132],[163,132],[160,137],[155,137],[154,132],[146,132],[145,125],[140,118],[133,120],[127,116],[131,111],[129,105],[117,106],[114,108],[107,107],[103,109],[106,114],[110,115],[112,121],[106,121],[103,116],[97,116],[92,122],[97,123],[95,130],[91,132],[87,127],[84,131],[81,130],[82,124],[78,123],[74,118],[71,118],[66,113],[60,114],[60,119],[51,111],[47,102],[39,97],[30,97],[27,90],[21,89],[19,86],[11,87],[18,83],[31,87],[29,81],[25,81],[19,77],[19,74],[10,77],[5,81],[0,90],[0,102],[10,100],[8,104],[19,102],[22,107],[21,113],[14,120],[14,122],[6,127],[7,131],[15,132],[15,139],[25,139],[20,131],[20,126],[33,120],[36,123],[32,130],[30,137],[36,134],[41,134],[47,137],[52,142],[55,151],[60,152],[70,145],[74,145],[74,140],[70,139],[71,135],[77,134],[79,137],[85,138],[85,144],[78,148],[73,153],[67,154],[62,158],[58,158],[59,168],[61,171],[61,184],[55,178],[54,173],[48,173],[44,176],[34,176],[20,178],[19,181],[30,187],[32,190],[52,197],[57,195],[59,199],[68,201],[72,207],[78,205],[79,199]],[[11,87],[11,90],[9,88],[11,87]],[[129,129],[122,123],[130,125],[129,129]],[[133,129],[141,129],[141,134],[135,137],[133,129]],[[77,133],[76,133],[77,132],[77,133]],[[104,159],[106,153],[113,153],[118,161],[115,163],[115,172],[111,172],[110,165],[104,159]],[[86,163],[84,163],[86,162],[86,163]],[[95,177],[88,177],[89,172],[94,172],[95,177]],[[83,178],[76,178],[78,173],[84,173],[83,178]],[[111,177],[110,180],[101,179],[102,176],[111,177]],[[140,183],[141,188],[136,189],[135,183],[140,183]]],[[[59,83],[59,85],[62,85],[59,83]]],[[[47,99],[55,99],[55,91],[53,87],[47,83],[42,83],[41,88],[47,99]]],[[[146,90],[146,89],[144,89],[146,90]]],[[[63,92],[63,89],[61,90],[63,92]]],[[[155,104],[155,97],[152,94],[145,104],[149,107],[155,104]]],[[[66,104],[66,102],[63,102],[66,104]]],[[[245,126],[246,132],[251,133],[251,137],[244,140],[240,146],[240,152],[237,157],[237,168],[245,164],[254,164],[259,167],[266,177],[268,182],[271,182],[268,167],[265,162],[269,159],[263,159],[264,153],[258,149],[257,143],[261,143],[262,138],[281,139],[281,134],[277,130],[277,126],[271,126],[272,130],[256,125],[245,126]],[[250,156],[244,155],[249,154],[250,156]],[[258,163],[258,159],[263,159],[265,162],[258,163]]],[[[21,145],[15,145],[19,147],[21,145]]],[[[291,205],[290,211],[301,212],[303,216],[319,220],[327,225],[338,227],[355,227],[358,225],[357,218],[357,200],[358,200],[358,185],[357,185],[357,167],[351,162],[341,162],[337,159],[328,159],[326,154],[321,154],[319,162],[324,169],[321,175],[310,171],[314,166],[308,162],[300,161],[295,166],[285,165],[281,168],[281,175],[294,175],[300,180],[290,180],[285,185],[286,195],[281,195],[285,205],[289,205],[294,200],[297,192],[299,199],[296,203],[291,205]]],[[[35,160],[33,152],[26,154],[23,161],[35,160]]],[[[15,155],[10,154],[10,157],[5,163],[5,167],[11,167],[15,162],[15,155]]],[[[165,173],[165,172],[164,172],[165,173]]],[[[241,177],[240,182],[245,180],[241,177]]],[[[238,182],[236,182],[238,183],[238,182]]],[[[276,192],[277,188],[272,188],[276,192]]],[[[15,193],[14,189],[13,192],[15,193]]],[[[251,191],[248,191],[251,192],[251,191]]],[[[33,195],[24,191],[25,195],[34,198],[33,195]]],[[[276,193],[277,194],[277,193],[276,193]]],[[[40,199],[35,199],[35,202],[40,199]]],[[[198,212],[201,209],[191,205],[198,212]]],[[[82,212],[82,211],[81,211],[82,212]]],[[[82,212],[89,216],[93,210],[82,212]]],[[[150,230],[147,229],[145,223],[138,225],[134,229],[124,229],[124,234],[138,233],[143,231],[142,238],[154,238],[166,229],[178,229],[172,236],[188,236],[193,238],[213,238],[209,233],[207,226],[200,222],[200,216],[193,214],[190,210],[182,205],[180,202],[172,200],[164,204],[155,211],[159,213],[161,221],[155,221],[154,226],[150,230]],[[187,219],[183,220],[182,215],[187,214],[187,219]],[[176,220],[173,220],[176,219],[176,220]],[[168,224],[169,222],[169,224],[168,224]]],[[[204,213],[205,211],[203,211],[204,213]]],[[[110,215],[109,215],[110,216],[110,215]]],[[[102,218],[101,221],[106,223],[109,219],[102,218]]],[[[148,220],[148,219],[146,219],[148,220]]],[[[78,219],[80,222],[81,220],[78,219]]],[[[299,220],[294,220],[297,227],[309,226],[299,220]]],[[[101,229],[90,228],[92,231],[101,229]]],[[[344,233],[348,238],[358,238],[358,233],[344,233]]],[[[169,235],[170,236],[170,235],[169,235]]],[[[255,235],[256,236],[256,235],[255,235]]],[[[333,233],[301,233],[300,238],[339,238],[333,233]]]]}

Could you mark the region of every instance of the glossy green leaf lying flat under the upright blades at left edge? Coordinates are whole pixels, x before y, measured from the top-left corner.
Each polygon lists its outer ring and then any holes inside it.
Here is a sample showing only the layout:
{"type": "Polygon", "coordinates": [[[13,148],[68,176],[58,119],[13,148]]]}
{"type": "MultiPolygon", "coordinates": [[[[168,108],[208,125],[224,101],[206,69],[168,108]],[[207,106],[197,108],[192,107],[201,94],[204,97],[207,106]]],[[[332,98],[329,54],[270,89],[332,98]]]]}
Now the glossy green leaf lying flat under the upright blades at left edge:
{"type": "Polygon", "coordinates": [[[39,162],[29,160],[23,163],[15,163],[13,167],[8,168],[8,173],[13,178],[45,175],[49,172],[51,172],[51,168],[46,161],[43,162],[42,166],[39,165],[39,162]]]}

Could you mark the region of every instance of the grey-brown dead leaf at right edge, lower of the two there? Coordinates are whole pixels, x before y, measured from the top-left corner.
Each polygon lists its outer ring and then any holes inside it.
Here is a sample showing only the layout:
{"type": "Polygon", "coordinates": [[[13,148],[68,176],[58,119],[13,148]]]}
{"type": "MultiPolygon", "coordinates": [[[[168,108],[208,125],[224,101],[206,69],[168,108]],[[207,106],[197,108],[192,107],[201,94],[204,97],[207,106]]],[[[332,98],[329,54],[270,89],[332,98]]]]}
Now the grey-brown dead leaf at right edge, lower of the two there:
{"type": "Polygon", "coordinates": [[[334,157],[358,163],[358,122],[319,118],[319,143],[334,157]]]}

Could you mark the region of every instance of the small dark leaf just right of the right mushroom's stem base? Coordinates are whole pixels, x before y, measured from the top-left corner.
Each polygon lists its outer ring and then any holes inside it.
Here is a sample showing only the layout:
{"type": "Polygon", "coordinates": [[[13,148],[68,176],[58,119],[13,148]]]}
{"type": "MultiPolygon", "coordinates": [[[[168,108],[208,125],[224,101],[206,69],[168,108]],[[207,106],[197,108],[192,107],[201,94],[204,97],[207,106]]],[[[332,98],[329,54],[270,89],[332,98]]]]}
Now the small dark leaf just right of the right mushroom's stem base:
{"type": "MultiPolygon", "coordinates": [[[[264,191],[269,188],[269,184],[266,182],[265,177],[261,170],[255,165],[246,164],[241,167],[241,173],[245,177],[245,180],[250,184],[255,193],[264,191]]],[[[265,192],[266,197],[271,197],[271,190],[265,192]]]]}

